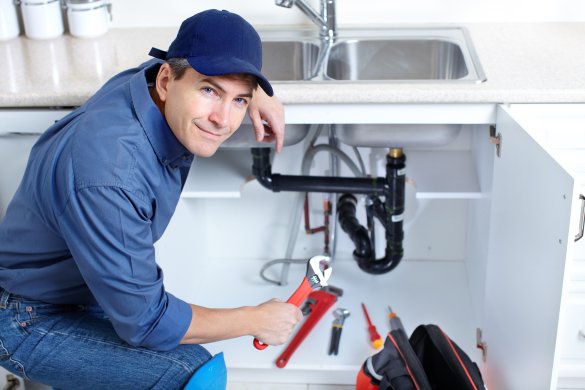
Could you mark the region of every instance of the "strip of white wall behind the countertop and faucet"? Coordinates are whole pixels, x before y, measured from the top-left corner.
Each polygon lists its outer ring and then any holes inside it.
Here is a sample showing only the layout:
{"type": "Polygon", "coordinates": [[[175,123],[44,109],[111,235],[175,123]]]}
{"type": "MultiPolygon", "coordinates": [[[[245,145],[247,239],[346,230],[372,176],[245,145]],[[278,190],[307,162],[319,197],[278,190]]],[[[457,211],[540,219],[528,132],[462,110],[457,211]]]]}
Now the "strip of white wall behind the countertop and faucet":
{"type": "MultiPolygon", "coordinates": [[[[318,8],[317,0],[310,0],[318,8]]],[[[298,25],[300,11],[274,0],[112,0],[113,27],[174,27],[207,8],[239,13],[252,24],[298,25]]],[[[585,21],[584,0],[337,0],[338,24],[585,21]]]]}

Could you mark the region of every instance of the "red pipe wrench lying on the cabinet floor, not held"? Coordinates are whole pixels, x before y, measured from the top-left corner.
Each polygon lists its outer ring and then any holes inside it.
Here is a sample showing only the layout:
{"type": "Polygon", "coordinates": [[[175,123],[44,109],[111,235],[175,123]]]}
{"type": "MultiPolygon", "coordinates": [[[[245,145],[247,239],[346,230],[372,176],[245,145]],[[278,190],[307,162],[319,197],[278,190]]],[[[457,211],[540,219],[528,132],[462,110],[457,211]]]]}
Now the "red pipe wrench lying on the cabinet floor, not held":
{"type": "Polygon", "coordinates": [[[299,328],[298,332],[295,334],[289,345],[285,348],[285,350],[280,354],[278,358],[276,358],[276,367],[284,368],[292,354],[297,350],[299,345],[305,340],[307,335],[313,330],[317,322],[323,317],[323,315],[329,310],[331,306],[335,302],[337,302],[337,297],[342,294],[342,291],[337,288],[326,287],[322,290],[313,291],[309,294],[309,298],[305,305],[309,305],[309,314],[305,319],[303,325],[299,328]]]}

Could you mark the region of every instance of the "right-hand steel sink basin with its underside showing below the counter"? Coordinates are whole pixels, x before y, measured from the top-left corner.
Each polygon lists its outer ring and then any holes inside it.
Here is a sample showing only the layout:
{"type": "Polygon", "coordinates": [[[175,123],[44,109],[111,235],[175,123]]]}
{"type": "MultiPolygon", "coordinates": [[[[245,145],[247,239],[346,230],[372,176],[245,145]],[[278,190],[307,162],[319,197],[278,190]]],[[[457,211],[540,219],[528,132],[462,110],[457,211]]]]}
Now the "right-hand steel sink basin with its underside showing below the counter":
{"type": "MultiPolygon", "coordinates": [[[[382,83],[481,83],[486,80],[462,28],[391,29],[384,36],[345,37],[330,48],[325,79],[382,83]]],[[[446,145],[461,124],[342,124],[338,139],[367,147],[446,145]]]]}

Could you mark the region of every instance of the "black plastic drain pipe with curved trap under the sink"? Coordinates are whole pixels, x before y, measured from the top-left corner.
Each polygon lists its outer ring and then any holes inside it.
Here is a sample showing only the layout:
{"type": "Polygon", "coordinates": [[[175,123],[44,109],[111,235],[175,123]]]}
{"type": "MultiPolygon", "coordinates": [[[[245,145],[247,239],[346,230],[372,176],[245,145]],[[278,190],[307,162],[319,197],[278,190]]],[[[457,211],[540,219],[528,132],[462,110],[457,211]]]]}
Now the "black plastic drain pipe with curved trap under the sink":
{"type": "Polygon", "coordinates": [[[386,157],[385,178],[347,178],[330,176],[299,176],[272,173],[270,148],[252,148],[252,173],[264,187],[273,192],[343,193],[339,198],[337,215],[341,228],[353,241],[353,252],[358,266],[370,274],[393,270],[402,259],[402,217],[404,213],[404,185],[406,156],[402,149],[390,149],[386,157]],[[351,194],[367,194],[371,212],[386,231],[386,251],[381,259],[375,257],[375,245],[368,229],[356,218],[357,199],[351,194]],[[379,196],[384,197],[381,201],[379,196]]]}

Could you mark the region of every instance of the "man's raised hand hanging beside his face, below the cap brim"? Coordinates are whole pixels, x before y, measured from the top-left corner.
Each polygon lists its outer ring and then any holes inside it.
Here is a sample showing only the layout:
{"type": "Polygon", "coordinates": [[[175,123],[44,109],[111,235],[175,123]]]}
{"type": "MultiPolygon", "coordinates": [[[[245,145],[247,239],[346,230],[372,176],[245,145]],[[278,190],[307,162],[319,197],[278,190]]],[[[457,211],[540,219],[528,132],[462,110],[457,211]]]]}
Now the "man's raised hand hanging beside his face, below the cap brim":
{"type": "Polygon", "coordinates": [[[256,140],[276,141],[276,152],[280,152],[284,142],[284,107],[278,98],[270,97],[262,88],[257,88],[248,107],[248,115],[254,126],[256,140]]]}

